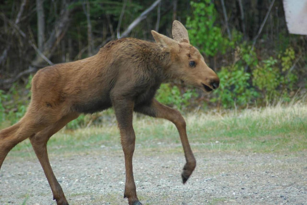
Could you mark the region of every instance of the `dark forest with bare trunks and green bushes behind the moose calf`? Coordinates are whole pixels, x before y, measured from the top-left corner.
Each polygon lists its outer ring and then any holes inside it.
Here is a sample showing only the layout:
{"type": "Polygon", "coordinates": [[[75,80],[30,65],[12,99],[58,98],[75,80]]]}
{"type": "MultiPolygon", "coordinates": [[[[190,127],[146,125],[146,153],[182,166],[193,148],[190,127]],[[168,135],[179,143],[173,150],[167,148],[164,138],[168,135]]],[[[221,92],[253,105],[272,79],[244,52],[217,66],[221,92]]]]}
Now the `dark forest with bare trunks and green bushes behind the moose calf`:
{"type": "MultiPolygon", "coordinates": [[[[153,41],[151,30],[171,37],[174,20],[221,84],[209,95],[162,84],[160,102],[183,112],[305,102],[307,36],[289,34],[282,0],[11,0],[0,1],[0,128],[25,113],[38,69],[92,56],[120,37],[153,41]]],[[[67,128],[102,120],[80,116],[67,128]]]]}

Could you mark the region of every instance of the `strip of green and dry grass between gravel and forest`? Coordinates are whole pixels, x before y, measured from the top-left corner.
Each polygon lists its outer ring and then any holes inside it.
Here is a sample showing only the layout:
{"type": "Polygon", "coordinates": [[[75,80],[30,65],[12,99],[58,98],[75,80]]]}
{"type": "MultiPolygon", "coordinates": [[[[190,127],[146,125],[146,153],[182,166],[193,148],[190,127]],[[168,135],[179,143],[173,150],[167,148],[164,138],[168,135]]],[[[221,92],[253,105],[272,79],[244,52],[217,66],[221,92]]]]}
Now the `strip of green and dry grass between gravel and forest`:
{"type": "MultiPolygon", "coordinates": [[[[194,152],[297,152],[307,149],[307,105],[254,108],[241,111],[189,113],[185,116],[194,152]]],[[[176,127],[162,119],[134,115],[137,149],[182,152],[176,127]]],[[[48,142],[49,153],[91,153],[106,146],[121,151],[115,123],[76,130],[62,129],[48,142]]],[[[10,155],[34,156],[29,140],[10,155]]]]}

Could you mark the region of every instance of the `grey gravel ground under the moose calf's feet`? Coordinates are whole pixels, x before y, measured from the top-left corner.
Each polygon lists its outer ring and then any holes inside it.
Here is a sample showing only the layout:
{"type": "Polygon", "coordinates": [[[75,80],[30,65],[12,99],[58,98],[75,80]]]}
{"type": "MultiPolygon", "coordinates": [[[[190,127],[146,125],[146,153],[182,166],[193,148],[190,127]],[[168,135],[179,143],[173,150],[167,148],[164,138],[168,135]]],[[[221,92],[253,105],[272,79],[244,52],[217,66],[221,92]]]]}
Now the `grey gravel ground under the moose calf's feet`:
{"type": "MultiPolygon", "coordinates": [[[[181,183],[183,154],[134,153],[134,179],[143,204],[307,204],[307,152],[195,152],[196,170],[181,183]]],[[[162,150],[162,151],[161,151],[162,150]]],[[[144,153],[146,152],[146,153],[144,153]]],[[[70,204],[127,204],[119,148],[50,156],[70,204]]],[[[34,157],[7,157],[0,171],[0,204],[55,204],[34,157]]]]}

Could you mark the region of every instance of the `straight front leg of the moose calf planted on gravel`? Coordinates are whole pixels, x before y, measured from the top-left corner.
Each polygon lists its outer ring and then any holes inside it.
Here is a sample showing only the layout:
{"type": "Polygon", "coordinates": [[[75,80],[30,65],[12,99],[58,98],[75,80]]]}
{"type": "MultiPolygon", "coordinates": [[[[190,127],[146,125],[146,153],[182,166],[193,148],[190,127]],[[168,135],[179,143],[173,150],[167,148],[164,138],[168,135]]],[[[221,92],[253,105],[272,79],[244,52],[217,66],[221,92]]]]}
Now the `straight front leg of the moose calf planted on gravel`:
{"type": "Polygon", "coordinates": [[[132,126],[133,101],[113,100],[118,127],[120,130],[122,150],[125,156],[126,183],[124,198],[128,198],[129,204],[142,205],[136,195],[136,187],[132,171],[132,156],[135,145],[135,134],[132,126]]]}

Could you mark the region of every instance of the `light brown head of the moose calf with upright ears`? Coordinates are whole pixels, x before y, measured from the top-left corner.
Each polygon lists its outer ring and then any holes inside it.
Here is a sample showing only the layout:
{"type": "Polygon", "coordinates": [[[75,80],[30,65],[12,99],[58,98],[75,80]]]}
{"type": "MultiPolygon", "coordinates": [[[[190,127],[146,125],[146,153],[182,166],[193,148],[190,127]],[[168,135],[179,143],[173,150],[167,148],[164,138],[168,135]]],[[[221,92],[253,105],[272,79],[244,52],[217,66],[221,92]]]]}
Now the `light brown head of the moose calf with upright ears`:
{"type": "Polygon", "coordinates": [[[219,87],[219,77],[208,67],[198,49],[190,44],[188,31],[179,21],[173,22],[173,39],[153,30],[151,33],[161,49],[171,54],[169,76],[205,92],[219,87]]]}

